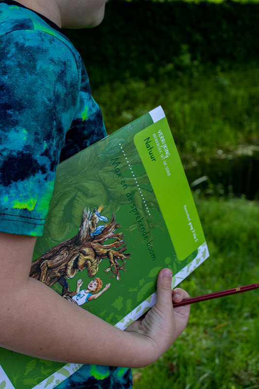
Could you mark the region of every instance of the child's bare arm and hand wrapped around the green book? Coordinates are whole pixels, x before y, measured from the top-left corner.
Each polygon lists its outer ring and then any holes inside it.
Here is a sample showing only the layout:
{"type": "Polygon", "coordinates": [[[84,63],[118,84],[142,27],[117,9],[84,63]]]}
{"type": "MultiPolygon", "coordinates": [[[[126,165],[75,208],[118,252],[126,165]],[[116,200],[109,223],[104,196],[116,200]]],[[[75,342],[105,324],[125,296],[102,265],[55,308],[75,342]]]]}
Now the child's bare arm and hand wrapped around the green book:
{"type": "MultiPolygon", "coordinates": [[[[163,277],[163,271],[155,306],[142,322],[121,331],[29,277],[35,240],[0,233],[2,347],[62,362],[143,367],[159,358],[185,329],[190,306],[173,311],[171,277],[163,277]]],[[[178,292],[175,302],[188,297],[182,289],[178,292]]]]}

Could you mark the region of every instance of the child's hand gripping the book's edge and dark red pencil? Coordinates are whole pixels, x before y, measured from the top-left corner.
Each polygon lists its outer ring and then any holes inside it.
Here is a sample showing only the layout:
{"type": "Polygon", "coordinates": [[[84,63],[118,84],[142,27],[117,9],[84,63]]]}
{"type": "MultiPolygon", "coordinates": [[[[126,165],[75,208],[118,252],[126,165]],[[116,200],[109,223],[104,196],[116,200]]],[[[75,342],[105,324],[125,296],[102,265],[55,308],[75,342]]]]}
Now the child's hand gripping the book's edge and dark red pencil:
{"type": "Polygon", "coordinates": [[[148,341],[154,360],[169,349],[175,339],[184,331],[189,319],[190,305],[173,309],[172,300],[180,302],[190,296],[180,288],[176,288],[172,292],[171,284],[171,270],[162,269],[157,278],[155,305],[142,320],[135,321],[125,330],[135,333],[141,338],[144,337],[148,341]]]}

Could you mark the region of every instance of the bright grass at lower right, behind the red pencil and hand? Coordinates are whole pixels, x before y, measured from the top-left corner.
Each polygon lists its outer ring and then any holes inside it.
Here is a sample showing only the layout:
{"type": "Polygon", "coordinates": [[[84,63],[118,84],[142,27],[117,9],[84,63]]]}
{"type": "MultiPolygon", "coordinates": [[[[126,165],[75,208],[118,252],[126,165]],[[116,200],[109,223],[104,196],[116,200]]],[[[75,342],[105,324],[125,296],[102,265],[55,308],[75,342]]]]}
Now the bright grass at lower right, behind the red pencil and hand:
{"type": "MultiPolygon", "coordinates": [[[[210,257],[182,284],[191,296],[259,280],[259,206],[196,199],[210,257]]],[[[133,371],[134,389],[258,389],[258,290],[194,304],[185,332],[155,364],[133,371]]]]}

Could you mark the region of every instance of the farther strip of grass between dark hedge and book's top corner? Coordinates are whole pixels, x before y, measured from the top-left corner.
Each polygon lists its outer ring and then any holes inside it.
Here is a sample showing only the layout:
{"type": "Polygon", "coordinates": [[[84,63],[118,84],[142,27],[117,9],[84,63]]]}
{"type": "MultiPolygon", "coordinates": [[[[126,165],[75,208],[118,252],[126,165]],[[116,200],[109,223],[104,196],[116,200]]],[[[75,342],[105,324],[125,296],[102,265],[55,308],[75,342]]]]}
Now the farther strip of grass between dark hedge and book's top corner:
{"type": "Polygon", "coordinates": [[[177,81],[161,74],[161,80],[105,84],[93,95],[108,133],[161,105],[180,153],[211,154],[259,143],[259,68],[216,69],[177,81]]]}

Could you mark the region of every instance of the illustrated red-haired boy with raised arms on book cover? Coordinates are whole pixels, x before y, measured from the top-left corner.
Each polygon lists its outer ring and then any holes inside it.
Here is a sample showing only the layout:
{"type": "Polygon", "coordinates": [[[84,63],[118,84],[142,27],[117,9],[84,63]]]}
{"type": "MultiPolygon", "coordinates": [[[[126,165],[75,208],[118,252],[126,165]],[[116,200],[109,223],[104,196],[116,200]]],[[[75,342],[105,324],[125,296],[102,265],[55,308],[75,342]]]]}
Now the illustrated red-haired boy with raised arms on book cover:
{"type": "Polygon", "coordinates": [[[83,285],[83,281],[80,279],[77,281],[77,288],[75,292],[66,293],[63,295],[67,300],[75,302],[77,305],[82,305],[87,301],[95,300],[100,297],[105,290],[109,289],[110,283],[104,286],[104,289],[99,292],[103,286],[101,278],[96,277],[94,280],[88,283],[87,289],[81,290],[80,287],[83,285]],[[99,293],[98,293],[99,292],[99,293]]]}

